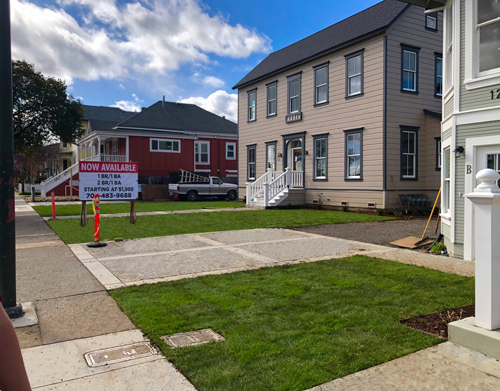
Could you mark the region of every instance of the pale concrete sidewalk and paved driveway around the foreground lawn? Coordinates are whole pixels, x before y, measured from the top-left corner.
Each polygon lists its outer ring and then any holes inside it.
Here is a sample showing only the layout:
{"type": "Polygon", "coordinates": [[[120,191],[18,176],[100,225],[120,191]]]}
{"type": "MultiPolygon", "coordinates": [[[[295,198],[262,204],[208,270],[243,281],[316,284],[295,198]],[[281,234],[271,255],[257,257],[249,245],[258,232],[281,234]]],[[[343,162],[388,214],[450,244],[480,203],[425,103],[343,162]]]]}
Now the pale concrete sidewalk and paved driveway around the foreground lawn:
{"type": "MultiPolygon", "coordinates": [[[[106,289],[354,254],[474,274],[469,262],[279,229],[68,247],[20,198],[16,217],[18,301],[34,303],[38,315],[37,325],[17,332],[32,386],[44,391],[195,390],[158,354],[88,365],[86,353],[114,348],[106,356],[126,356],[130,346],[148,342],[106,289]]],[[[446,342],[311,391],[450,388],[500,389],[500,363],[446,342]]]]}

